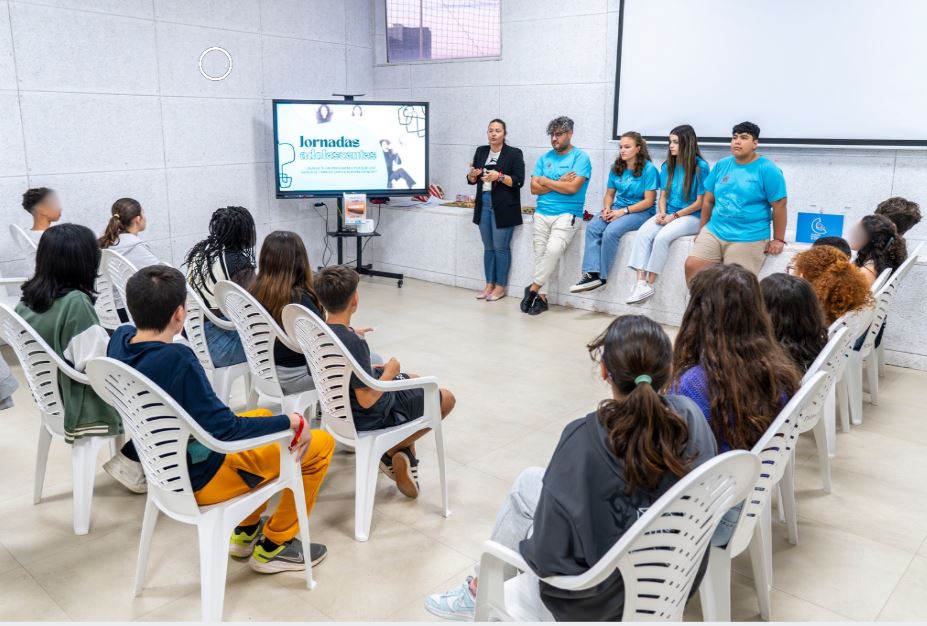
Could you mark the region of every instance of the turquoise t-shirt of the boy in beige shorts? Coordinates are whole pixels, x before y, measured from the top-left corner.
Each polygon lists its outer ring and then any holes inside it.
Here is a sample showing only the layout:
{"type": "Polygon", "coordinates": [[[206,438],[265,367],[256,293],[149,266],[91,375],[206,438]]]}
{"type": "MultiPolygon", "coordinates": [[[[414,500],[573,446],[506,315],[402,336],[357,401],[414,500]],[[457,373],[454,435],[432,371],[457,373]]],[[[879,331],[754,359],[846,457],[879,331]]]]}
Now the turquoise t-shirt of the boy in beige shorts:
{"type": "Polygon", "coordinates": [[[786,196],[785,177],[775,163],[760,157],[738,165],[734,157],[721,159],[705,180],[705,191],[715,195],[708,230],[723,241],[769,239],[772,202],[786,196]]]}

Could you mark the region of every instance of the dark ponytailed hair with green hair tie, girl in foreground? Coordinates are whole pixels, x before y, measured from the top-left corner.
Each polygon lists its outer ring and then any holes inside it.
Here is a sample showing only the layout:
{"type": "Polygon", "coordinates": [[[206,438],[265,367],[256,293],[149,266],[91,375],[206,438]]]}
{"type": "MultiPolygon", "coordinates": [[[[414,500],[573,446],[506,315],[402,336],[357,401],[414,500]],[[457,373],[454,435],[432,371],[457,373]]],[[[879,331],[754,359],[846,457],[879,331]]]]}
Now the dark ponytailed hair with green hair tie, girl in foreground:
{"type": "Polygon", "coordinates": [[[619,399],[599,404],[598,418],[611,451],[623,464],[628,493],[655,489],[666,472],[685,476],[689,428],[660,395],[670,380],[673,349],[669,337],[643,315],[624,315],[589,344],[600,355],[619,399]]]}

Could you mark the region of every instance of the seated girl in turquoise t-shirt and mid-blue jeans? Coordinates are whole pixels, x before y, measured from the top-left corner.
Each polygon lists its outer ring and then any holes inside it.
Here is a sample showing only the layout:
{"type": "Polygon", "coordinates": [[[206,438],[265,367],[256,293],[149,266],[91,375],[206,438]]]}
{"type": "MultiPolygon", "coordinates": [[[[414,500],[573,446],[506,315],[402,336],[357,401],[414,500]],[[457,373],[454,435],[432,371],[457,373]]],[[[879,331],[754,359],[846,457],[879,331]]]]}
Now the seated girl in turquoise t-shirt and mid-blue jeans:
{"type": "Polygon", "coordinates": [[[602,211],[586,227],[583,275],[571,293],[591,291],[605,284],[618,255],[621,236],[638,228],[654,214],[660,173],[650,161],[647,142],[628,132],[619,141],[618,158],[608,173],[602,211]]]}

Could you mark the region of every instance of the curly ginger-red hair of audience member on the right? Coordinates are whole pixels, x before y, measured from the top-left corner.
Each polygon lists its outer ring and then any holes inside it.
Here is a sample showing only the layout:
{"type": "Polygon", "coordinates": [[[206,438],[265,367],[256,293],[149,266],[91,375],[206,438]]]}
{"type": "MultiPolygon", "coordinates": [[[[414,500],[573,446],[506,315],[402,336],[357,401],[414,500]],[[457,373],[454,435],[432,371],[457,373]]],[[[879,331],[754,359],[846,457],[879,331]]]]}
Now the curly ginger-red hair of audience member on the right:
{"type": "Polygon", "coordinates": [[[847,257],[832,246],[816,246],[792,260],[798,274],[811,283],[828,326],[842,315],[872,303],[866,279],[847,257]]]}

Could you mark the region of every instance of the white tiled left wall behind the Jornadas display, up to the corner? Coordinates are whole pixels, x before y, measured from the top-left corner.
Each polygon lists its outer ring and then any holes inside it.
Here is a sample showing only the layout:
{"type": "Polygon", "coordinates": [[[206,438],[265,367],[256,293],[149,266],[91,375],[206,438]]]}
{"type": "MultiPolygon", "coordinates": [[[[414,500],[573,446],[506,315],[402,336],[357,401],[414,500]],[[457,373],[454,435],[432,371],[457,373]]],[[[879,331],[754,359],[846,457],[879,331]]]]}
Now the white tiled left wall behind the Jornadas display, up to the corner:
{"type": "Polygon", "coordinates": [[[372,97],[372,28],[372,0],[0,0],[0,273],[25,271],[9,224],[31,223],[21,194],[43,185],[94,231],[135,197],[175,264],[226,204],[321,258],[310,202],[274,197],[270,100],[372,97]],[[212,46],[225,80],[197,68],[212,46]]]}

